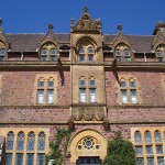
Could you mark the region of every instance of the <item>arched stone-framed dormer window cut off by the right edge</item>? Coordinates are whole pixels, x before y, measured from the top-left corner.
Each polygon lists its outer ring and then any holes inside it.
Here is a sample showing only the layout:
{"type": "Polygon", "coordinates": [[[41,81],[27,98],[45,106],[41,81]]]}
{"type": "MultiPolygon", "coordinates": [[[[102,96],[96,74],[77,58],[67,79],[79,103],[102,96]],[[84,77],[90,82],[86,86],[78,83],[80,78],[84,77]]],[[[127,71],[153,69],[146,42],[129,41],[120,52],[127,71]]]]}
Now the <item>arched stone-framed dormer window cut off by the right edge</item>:
{"type": "Polygon", "coordinates": [[[164,43],[161,43],[156,46],[155,56],[160,63],[165,61],[165,44],[164,43]]]}

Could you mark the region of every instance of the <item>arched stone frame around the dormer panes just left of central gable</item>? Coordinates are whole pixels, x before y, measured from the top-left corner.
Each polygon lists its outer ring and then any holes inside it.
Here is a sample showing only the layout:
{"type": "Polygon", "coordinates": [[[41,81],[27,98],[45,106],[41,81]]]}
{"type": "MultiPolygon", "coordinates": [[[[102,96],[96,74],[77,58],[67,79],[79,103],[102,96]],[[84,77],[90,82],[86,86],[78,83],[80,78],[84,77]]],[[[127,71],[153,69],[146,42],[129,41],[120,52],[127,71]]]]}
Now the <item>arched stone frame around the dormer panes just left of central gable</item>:
{"type": "Polygon", "coordinates": [[[46,42],[41,47],[40,59],[55,62],[55,61],[57,61],[58,52],[59,51],[58,51],[57,46],[53,42],[46,42]],[[51,53],[53,50],[56,52],[55,54],[51,53]],[[43,51],[45,51],[46,53],[43,54],[43,51]]]}

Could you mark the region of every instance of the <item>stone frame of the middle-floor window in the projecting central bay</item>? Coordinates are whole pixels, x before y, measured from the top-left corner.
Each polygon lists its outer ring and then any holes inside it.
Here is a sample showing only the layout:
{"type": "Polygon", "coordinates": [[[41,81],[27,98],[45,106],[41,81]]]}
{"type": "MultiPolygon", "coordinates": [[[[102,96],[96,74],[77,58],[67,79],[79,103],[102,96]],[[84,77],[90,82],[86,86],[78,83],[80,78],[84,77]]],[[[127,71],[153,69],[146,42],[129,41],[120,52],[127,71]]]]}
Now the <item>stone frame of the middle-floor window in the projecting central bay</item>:
{"type": "Polygon", "coordinates": [[[78,94],[79,94],[79,103],[96,103],[97,102],[97,80],[94,76],[90,76],[88,79],[86,79],[85,76],[81,76],[78,79],[78,94]],[[80,85],[80,81],[84,80],[85,84],[80,85]],[[90,85],[90,80],[95,81],[95,85],[90,85]],[[80,89],[85,89],[85,101],[80,101],[80,89]],[[91,92],[90,90],[95,89],[95,101],[90,100],[91,92]]]}

